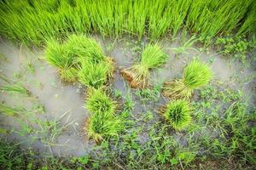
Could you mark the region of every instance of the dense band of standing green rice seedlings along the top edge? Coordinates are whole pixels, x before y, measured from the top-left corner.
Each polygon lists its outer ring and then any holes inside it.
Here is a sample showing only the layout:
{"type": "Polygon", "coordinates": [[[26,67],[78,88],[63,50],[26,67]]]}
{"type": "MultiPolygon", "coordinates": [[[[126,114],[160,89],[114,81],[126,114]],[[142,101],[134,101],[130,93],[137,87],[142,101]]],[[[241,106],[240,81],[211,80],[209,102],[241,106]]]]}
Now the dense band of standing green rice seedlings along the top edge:
{"type": "Polygon", "coordinates": [[[148,33],[152,40],[184,26],[202,39],[227,34],[255,33],[255,1],[247,0],[76,0],[2,1],[0,32],[20,42],[41,45],[49,38],[73,33],[100,32],[102,36],[148,33]]]}

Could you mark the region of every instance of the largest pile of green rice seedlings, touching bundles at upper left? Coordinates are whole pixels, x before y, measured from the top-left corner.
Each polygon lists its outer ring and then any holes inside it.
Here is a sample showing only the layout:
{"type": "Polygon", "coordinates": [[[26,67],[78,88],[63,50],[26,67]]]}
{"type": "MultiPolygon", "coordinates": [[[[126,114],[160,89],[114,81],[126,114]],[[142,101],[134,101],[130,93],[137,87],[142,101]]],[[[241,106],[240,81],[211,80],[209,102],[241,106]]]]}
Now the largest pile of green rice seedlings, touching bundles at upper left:
{"type": "Polygon", "coordinates": [[[68,36],[63,43],[50,40],[45,56],[66,82],[79,80],[88,88],[101,88],[112,77],[113,60],[104,56],[95,40],[82,35],[68,36]]]}

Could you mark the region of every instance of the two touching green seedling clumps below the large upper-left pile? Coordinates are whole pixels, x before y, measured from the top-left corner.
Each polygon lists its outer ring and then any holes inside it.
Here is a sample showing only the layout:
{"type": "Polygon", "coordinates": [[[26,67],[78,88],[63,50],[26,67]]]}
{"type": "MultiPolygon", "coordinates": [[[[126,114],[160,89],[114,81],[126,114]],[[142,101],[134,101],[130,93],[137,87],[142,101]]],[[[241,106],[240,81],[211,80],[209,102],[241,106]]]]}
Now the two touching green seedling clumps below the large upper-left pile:
{"type": "Polygon", "coordinates": [[[116,103],[102,89],[90,91],[85,108],[90,111],[90,117],[87,119],[84,130],[96,143],[101,143],[103,139],[117,137],[124,130],[124,120],[115,115],[116,103]]]}

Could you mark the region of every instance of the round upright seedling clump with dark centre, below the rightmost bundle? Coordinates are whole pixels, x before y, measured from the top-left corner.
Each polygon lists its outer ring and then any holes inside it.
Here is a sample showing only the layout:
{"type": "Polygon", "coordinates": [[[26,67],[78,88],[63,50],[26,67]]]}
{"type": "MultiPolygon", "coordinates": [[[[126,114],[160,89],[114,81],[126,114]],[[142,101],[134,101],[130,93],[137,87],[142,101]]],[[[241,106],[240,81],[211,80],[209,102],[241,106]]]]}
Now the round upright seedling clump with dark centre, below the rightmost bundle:
{"type": "Polygon", "coordinates": [[[181,130],[191,122],[190,111],[189,102],[178,99],[166,105],[166,111],[164,111],[163,116],[174,129],[181,130]]]}

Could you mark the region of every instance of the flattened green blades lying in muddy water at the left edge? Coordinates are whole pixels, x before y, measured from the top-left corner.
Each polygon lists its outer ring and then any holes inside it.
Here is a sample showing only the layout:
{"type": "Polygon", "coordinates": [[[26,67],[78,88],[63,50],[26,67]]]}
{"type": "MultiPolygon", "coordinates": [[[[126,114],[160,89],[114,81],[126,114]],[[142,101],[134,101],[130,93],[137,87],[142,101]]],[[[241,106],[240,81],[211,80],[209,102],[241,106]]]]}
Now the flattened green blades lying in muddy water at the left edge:
{"type": "Polygon", "coordinates": [[[31,92],[24,88],[24,86],[20,83],[8,84],[3,86],[0,85],[0,90],[3,90],[4,92],[23,94],[27,96],[31,95],[31,92]]]}

